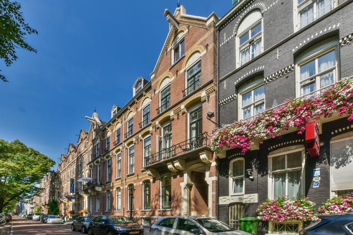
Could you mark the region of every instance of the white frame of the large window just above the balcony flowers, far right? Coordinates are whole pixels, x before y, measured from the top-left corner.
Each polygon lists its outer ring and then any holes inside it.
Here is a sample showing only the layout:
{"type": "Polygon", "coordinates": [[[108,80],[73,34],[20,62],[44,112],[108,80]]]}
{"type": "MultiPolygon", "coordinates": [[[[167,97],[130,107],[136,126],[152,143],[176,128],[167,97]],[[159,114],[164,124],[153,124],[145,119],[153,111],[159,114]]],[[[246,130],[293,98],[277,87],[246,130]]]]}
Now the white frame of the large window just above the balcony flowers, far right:
{"type": "MultiPolygon", "coordinates": [[[[339,81],[339,41],[336,38],[326,39],[317,45],[310,47],[305,50],[303,53],[296,57],[296,97],[313,97],[318,94],[318,90],[323,89],[325,87],[320,87],[320,75],[327,74],[329,71],[333,71],[333,83],[337,83],[339,81]],[[323,56],[331,51],[334,51],[335,55],[335,65],[324,71],[318,72],[318,58],[323,56]],[[301,81],[301,66],[315,60],[315,74],[307,77],[304,81],[301,81]],[[315,80],[315,91],[305,94],[303,92],[302,84],[309,84],[310,81],[315,80]]],[[[331,86],[332,84],[328,85],[331,86]]]]}

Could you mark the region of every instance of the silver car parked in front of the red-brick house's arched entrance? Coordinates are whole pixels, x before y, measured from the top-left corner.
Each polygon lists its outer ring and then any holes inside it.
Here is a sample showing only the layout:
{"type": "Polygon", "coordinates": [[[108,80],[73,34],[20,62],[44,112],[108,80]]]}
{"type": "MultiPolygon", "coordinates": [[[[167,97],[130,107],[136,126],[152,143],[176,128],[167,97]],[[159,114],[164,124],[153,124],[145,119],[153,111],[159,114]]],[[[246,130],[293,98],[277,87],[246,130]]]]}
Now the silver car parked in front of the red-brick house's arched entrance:
{"type": "Polygon", "coordinates": [[[165,216],[160,217],[150,227],[150,235],[167,234],[248,234],[251,233],[233,228],[222,221],[205,216],[165,216]]]}

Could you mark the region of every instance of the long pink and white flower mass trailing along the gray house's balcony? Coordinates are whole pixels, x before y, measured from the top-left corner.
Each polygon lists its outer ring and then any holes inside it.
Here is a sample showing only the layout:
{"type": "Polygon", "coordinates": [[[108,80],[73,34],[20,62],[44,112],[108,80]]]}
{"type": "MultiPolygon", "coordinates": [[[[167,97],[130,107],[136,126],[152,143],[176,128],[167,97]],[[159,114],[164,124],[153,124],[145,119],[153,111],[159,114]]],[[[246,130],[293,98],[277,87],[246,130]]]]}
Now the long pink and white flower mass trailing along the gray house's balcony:
{"type": "Polygon", "coordinates": [[[290,128],[296,128],[298,134],[302,134],[310,119],[327,118],[334,113],[347,116],[348,121],[353,120],[353,77],[321,90],[315,97],[293,99],[252,119],[236,121],[218,129],[212,136],[212,149],[220,152],[224,147],[240,148],[246,152],[254,139],[262,143],[290,128]]]}

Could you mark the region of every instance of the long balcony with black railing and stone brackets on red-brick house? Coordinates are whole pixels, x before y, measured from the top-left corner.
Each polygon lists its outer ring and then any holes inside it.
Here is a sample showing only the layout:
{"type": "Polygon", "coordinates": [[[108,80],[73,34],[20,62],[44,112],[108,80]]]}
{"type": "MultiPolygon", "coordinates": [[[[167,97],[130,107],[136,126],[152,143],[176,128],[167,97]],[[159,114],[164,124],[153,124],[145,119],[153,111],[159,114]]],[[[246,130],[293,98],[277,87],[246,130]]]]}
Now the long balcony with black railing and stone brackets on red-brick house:
{"type": "Polygon", "coordinates": [[[196,137],[190,138],[181,143],[164,148],[159,152],[153,153],[145,157],[145,168],[158,169],[165,165],[165,161],[174,159],[176,156],[188,158],[189,160],[199,158],[199,154],[194,154],[201,149],[209,149],[210,138],[207,132],[204,132],[196,137]]]}

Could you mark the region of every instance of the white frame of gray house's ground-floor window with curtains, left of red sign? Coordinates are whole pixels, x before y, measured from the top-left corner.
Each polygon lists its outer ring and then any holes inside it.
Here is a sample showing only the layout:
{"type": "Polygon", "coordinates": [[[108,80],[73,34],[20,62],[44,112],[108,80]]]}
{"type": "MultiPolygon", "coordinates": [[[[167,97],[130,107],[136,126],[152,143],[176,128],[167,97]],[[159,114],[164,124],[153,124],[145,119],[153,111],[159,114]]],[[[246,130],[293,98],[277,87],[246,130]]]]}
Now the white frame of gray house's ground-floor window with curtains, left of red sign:
{"type": "MultiPolygon", "coordinates": [[[[297,145],[297,146],[290,146],[290,147],[284,147],[278,150],[275,150],[273,152],[270,152],[268,155],[268,198],[269,199],[275,199],[274,198],[274,182],[273,182],[273,173],[272,171],[272,159],[275,156],[280,156],[280,155],[287,155],[289,153],[293,152],[302,152],[302,166],[300,168],[292,168],[292,169],[287,169],[287,157],[285,157],[285,168],[283,170],[278,170],[276,172],[285,172],[288,173],[292,170],[298,170],[301,169],[301,195],[305,195],[305,147],[302,145],[297,145]]],[[[286,184],[286,193],[288,192],[288,177],[286,176],[285,179],[285,184],[286,184]]],[[[287,195],[287,196],[292,196],[292,195],[287,195]]]]}

